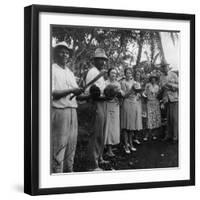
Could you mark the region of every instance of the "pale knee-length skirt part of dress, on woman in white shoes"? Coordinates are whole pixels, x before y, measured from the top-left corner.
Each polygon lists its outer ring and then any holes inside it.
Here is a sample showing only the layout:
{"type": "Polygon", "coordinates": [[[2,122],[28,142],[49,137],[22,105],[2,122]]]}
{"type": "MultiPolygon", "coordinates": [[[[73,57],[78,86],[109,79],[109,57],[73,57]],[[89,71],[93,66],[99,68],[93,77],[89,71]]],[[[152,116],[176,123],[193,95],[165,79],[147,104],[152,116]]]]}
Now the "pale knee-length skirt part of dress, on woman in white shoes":
{"type": "Polygon", "coordinates": [[[125,99],[121,109],[121,129],[142,129],[142,105],[141,101],[125,99]]]}

